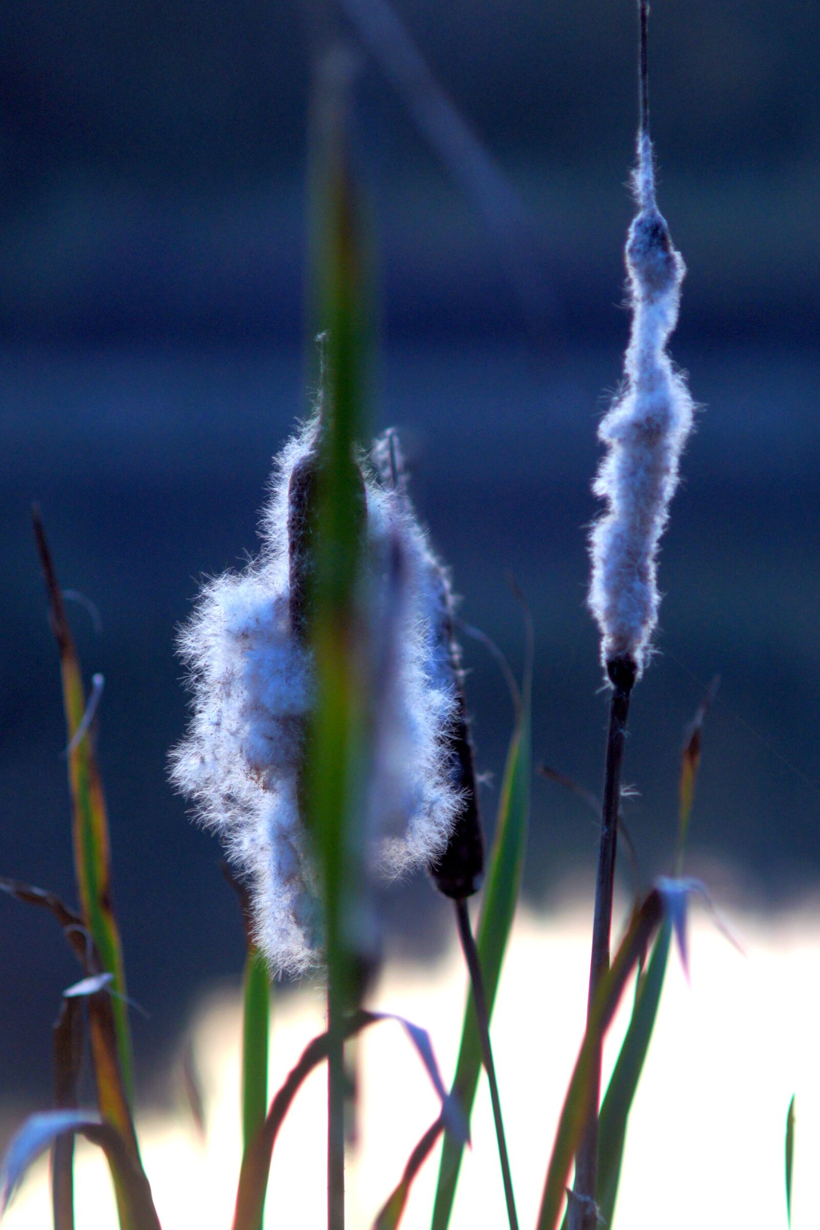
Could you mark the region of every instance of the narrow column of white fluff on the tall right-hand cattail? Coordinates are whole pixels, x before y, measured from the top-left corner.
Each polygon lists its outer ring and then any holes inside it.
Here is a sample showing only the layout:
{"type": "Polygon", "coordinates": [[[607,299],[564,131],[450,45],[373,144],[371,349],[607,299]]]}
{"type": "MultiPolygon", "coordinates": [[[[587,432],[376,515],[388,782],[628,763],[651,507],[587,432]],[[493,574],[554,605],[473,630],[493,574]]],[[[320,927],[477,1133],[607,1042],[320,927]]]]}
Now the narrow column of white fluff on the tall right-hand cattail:
{"type": "Polygon", "coordinates": [[[638,214],[626,245],[632,332],[626,383],[599,427],[607,446],[595,478],[607,508],[595,524],[589,605],[601,630],[605,669],[618,659],[641,675],[658,622],[658,544],[679,482],[693,406],[666,343],[677,322],[686,267],[655,202],[652,143],[638,139],[638,214]]]}

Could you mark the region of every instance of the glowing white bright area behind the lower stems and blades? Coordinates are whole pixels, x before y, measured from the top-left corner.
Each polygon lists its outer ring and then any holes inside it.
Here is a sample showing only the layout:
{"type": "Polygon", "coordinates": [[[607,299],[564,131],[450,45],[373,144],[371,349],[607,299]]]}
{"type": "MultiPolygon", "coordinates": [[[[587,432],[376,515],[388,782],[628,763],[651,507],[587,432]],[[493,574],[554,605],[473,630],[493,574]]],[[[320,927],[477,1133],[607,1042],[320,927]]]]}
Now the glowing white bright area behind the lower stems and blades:
{"type": "MultiPolygon", "coordinates": [[[[616,1228],[692,1230],[786,1228],[783,1138],[797,1092],[794,1230],[816,1226],[814,1175],[820,1156],[820,904],[765,918],[730,913],[740,956],[706,914],[692,920],[691,986],[670,964],[652,1050],[636,1100],[616,1228]]],[[[535,1224],[545,1167],[583,1025],[588,921],[577,908],[520,915],[500,988],[493,1037],[522,1228],[535,1224]]],[[[455,951],[432,968],[387,969],[374,1006],[425,1026],[449,1074],[455,1060],[465,979],[455,951]]],[[[302,1046],[322,1028],[317,988],[274,1007],[272,1082],[278,1086],[302,1046]]],[[[620,1018],[611,1053],[623,1028],[620,1018]]],[[[144,1157],[164,1230],[229,1230],[239,1165],[239,1015],[203,1005],[193,1046],[207,1103],[205,1141],[189,1117],[146,1116],[144,1157]]],[[[366,1230],[398,1180],[418,1137],[436,1114],[428,1079],[403,1032],[369,1031],[361,1046],[363,1134],[348,1167],[352,1230],[366,1230]]],[[[170,1081],[178,1073],[168,1074],[170,1081]]],[[[321,1230],[325,1218],[325,1084],[316,1073],[282,1133],[270,1173],[273,1230],[321,1230]]],[[[427,1230],[438,1151],[413,1191],[406,1230],[427,1230]]],[[[104,1164],[89,1146],[77,1162],[79,1230],[114,1226],[104,1164]]],[[[503,1228],[505,1213],[489,1098],[482,1084],[454,1230],[503,1228]]],[[[6,1230],[50,1225],[47,1164],[31,1173],[5,1219],[6,1230]]]]}

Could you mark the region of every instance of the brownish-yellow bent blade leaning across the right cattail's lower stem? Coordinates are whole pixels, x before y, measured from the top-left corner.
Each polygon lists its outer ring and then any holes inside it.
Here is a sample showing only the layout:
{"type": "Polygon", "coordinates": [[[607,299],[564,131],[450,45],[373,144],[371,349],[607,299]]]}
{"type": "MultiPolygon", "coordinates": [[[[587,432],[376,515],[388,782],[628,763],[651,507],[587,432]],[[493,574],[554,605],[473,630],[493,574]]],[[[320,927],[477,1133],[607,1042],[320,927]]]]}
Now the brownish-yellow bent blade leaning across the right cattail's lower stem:
{"type": "Polygon", "coordinates": [[[589,1118],[590,1098],[595,1096],[591,1080],[593,1059],[600,1050],[627,982],[638,962],[643,959],[663,918],[663,898],[658,889],[653,889],[633,913],[615,959],[601,979],[558,1121],[536,1223],[537,1230],[556,1230],[558,1225],[569,1170],[589,1118]]]}

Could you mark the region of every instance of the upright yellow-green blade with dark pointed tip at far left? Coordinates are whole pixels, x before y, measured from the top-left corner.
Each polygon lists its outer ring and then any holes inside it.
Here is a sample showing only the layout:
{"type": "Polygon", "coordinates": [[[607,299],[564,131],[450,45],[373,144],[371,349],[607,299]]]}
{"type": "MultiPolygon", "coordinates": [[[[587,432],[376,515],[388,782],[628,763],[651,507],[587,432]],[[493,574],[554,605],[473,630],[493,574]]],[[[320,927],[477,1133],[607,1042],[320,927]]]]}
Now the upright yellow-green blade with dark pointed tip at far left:
{"type": "MultiPolygon", "coordinates": [[[[134,1060],[125,1002],[123,948],[112,903],[111,849],[102,779],[90,732],[86,731],[75,743],[86,711],[82,674],[65,614],[63,593],[57,581],[54,561],[37,509],[34,509],[33,519],[37,547],[45,578],[52,629],[59,648],[63,674],[63,705],[70,747],[69,785],[74,817],[74,863],[77,892],[82,916],[93,936],[103,969],[114,975],[114,990],[118,996],[113,1001],[117,1049],[123,1082],[130,1101],[133,1097],[134,1060]]],[[[102,1097],[104,1097],[104,1091],[101,1091],[102,1097]]],[[[104,1107],[102,1109],[103,1113],[107,1113],[104,1107]]]]}

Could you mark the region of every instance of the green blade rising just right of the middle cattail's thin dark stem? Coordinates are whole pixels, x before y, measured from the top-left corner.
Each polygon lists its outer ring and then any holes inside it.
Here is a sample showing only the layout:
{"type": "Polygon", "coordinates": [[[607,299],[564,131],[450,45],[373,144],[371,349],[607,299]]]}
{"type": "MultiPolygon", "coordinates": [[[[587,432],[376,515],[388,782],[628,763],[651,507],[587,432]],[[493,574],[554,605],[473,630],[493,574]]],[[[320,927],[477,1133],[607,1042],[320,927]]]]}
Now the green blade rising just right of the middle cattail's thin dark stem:
{"type": "MultiPolygon", "coordinates": [[[[495,836],[489,854],[487,887],[478,922],[477,947],[484,979],[487,1012],[492,1016],[515,903],[521,887],[530,815],[530,672],[510,740],[502,784],[495,836]]],[[[481,1073],[481,1038],[472,994],[467,999],[452,1092],[467,1119],[481,1073]]],[[[446,1230],[459,1182],[463,1143],[445,1132],[433,1209],[433,1230],[446,1230]]]]}

